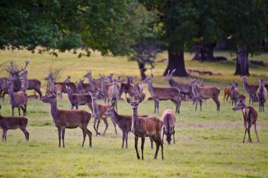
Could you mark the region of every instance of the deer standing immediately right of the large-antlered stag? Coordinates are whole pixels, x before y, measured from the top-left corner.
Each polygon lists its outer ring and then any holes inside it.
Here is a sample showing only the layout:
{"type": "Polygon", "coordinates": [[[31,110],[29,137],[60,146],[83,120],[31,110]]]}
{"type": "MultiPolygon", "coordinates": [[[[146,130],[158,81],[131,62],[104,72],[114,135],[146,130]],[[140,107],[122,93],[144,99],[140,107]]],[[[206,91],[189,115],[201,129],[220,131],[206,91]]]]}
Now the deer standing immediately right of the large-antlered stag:
{"type": "Polygon", "coordinates": [[[28,71],[23,70],[23,73],[20,74],[20,77],[23,77],[23,81],[21,81],[22,90],[35,90],[39,94],[39,99],[42,98],[41,91],[41,82],[37,79],[28,79],[28,71]]]}

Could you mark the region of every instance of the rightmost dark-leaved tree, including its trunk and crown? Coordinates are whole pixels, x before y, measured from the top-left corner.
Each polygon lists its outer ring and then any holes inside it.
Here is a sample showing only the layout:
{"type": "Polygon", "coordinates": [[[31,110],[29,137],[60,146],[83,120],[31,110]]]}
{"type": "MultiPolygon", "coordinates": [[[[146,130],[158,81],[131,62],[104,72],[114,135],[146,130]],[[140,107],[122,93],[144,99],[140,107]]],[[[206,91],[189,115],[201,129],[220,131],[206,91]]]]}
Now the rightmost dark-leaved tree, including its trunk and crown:
{"type": "Polygon", "coordinates": [[[268,1],[227,1],[226,36],[236,52],[234,75],[249,75],[248,56],[260,54],[268,35],[268,1]]]}

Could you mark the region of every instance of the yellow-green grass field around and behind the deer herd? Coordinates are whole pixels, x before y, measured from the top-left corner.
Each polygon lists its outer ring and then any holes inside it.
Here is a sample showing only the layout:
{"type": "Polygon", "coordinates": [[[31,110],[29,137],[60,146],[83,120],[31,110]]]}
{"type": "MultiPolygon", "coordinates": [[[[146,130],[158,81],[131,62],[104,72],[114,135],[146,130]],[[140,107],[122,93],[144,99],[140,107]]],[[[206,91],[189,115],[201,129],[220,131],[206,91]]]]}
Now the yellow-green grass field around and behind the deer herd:
{"type": "MultiPolygon", "coordinates": [[[[221,111],[216,111],[212,100],[203,104],[202,112],[195,112],[191,102],[181,104],[181,113],[177,115],[176,144],[168,146],[164,142],[164,160],[159,152],[154,160],[154,150],[150,149],[150,141],[145,141],[145,160],[138,160],[135,154],[133,133],[129,133],[128,149],[121,148],[120,129],[115,134],[114,126],[109,119],[109,128],[105,136],[92,137],[92,148],[88,138],[84,148],[81,148],[83,133],[80,129],[66,129],[66,148],[58,148],[58,133],[49,113],[49,105],[39,100],[28,102],[28,131],[30,141],[25,142],[24,135],[19,130],[8,131],[6,143],[0,143],[0,177],[268,177],[268,107],[266,112],[259,113],[257,128],[260,143],[257,143],[254,129],[251,130],[252,143],[243,141],[243,117],[241,112],[233,112],[231,104],[223,102],[223,91],[228,83],[239,81],[240,93],[245,94],[239,76],[233,76],[236,64],[226,52],[217,52],[226,56],[229,61],[217,63],[201,63],[191,61],[193,54],[185,54],[185,65],[188,69],[212,71],[221,76],[202,76],[205,85],[217,85],[221,88],[221,111]]],[[[138,76],[138,65],[127,61],[126,57],[100,57],[93,53],[92,57],[78,59],[75,54],[64,53],[59,57],[49,54],[31,54],[25,51],[1,51],[0,64],[9,60],[16,61],[18,66],[24,65],[24,60],[30,58],[28,66],[29,78],[37,78],[44,83],[43,78],[49,69],[61,69],[59,81],[71,75],[71,81],[83,78],[85,70],[92,70],[94,78],[99,73],[114,76],[138,76]]],[[[157,60],[167,58],[166,53],[159,54],[157,60]]],[[[252,66],[250,73],[263,78],[268,73],[268,54],[250,59],[263,60],[265,67],[252,66]]],[[[154,85],[168,86],[162,73],[166,64],[157,63],[154,69],[154,85]]],[[[0,76],[6,76],[4,66],[1,66],[0,76]]],[[[200,78],[200,76],[192,76],[200,78]]],[[[188,78],[175,78],[176,81],[188,81],[188,78]]],[[[249,78],[249,83],[257,83],[256,76],[249,78]]],[[[44,91],[45,84],[42,90],[44,91]]],[[[149,93],[145,87],[147,97],[149,93]]],[[[32,94],[32,91],[28,92],[32,94]]],[[[248,95],[246,95],[248,103],[248,95]]],[[[1,114],[11,115],[11,106],[6,96],[6,102],[1,102],[1,114]]],[[[139,105],[139,114],[153,114],[153,102],[145,101],[139,105]]],[[[71,105],[66,95],[58,101],[59,109],[69,109],[71,105]]],[[[166,108],[175,106],[164,101],[159,104],[160,114],[166,108]]],[[[255,104],[257,108],[257,104],[255,104]]],[[[89,111],[88,107],[80,109],[89,111]]],[[[118,103],[119,114],[132,114],[130,105],[118,103]]],[[[16,114],[17,114],[16,109],[16,114]]],[[[92,133],[93,121],[87,127],[92,133]]],[[[101,122],[100,131],[104,130],[101,122]]],[[[139,149],[140,149],[139,141],[139,149]]],[[[141,154],[141,151],[140,151],[141,154]]]]}

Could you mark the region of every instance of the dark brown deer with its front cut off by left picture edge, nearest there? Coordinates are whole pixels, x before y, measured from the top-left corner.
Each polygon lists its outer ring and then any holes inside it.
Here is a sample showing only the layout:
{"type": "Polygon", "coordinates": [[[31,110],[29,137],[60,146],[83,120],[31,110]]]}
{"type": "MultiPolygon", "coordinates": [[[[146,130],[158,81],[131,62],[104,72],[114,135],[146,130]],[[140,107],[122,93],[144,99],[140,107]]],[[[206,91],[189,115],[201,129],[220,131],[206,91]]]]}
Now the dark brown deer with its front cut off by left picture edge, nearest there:
{"type": "Polygon", "coordinates": [[[0,129],[3,130],[2,141],[6,141],[6,136],[9,129],[20,129],[25,135],[25,140],[29,141],[29,133],[26,130],[27,124],[28,119],[26,117],[2,117],[0,114],[0,129]]]}

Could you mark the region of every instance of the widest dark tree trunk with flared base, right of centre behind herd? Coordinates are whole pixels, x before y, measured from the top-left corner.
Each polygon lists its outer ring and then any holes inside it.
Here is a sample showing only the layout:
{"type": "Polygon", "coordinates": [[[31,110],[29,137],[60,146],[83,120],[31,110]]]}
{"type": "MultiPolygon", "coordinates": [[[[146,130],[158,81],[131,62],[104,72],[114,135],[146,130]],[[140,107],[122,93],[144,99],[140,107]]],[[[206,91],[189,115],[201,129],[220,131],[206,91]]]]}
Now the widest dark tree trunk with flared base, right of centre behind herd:
{"type": "Polygon", "coordinates": [[[168,53],[169,53],[169,64],[163,75],[166,76],[166,73],[168,73],[169,70],[173,71],[173,69],[176,69],[176,71],[173,73],[173,76],[188,76],[188,74],[185,71],[183,51],[173,54],[169,50],[168,53]]]}

